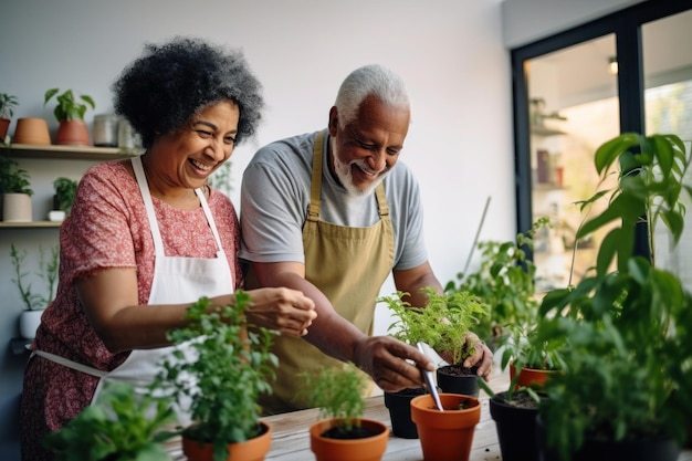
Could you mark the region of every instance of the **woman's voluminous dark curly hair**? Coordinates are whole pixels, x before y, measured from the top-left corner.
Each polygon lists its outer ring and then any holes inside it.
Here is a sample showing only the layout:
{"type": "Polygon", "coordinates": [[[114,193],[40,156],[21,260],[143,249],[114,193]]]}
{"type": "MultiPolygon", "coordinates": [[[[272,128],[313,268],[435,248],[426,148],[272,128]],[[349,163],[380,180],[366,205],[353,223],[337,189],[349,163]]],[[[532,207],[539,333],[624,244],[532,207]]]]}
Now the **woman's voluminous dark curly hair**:
{"type": "Polygon", "coordinates": [[[157,136],[180,128],[206,106],[230,99],[240,119],[235,144],[254,135],[264,107],[262,85],[241,50],[200,39],[176,38],[145,45],[113,84],[115,112],[141,136],[145,148],[157,136]]]}

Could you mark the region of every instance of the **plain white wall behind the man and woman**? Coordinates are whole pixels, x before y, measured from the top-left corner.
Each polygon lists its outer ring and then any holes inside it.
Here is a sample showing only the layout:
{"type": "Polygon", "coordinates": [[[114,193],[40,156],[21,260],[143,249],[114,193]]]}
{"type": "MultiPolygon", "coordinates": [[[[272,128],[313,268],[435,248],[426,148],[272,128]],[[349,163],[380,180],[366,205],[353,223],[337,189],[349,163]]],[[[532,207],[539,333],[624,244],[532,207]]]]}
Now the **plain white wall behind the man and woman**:
{"type": "MultiPolygon", "coordinates": [[[[43,116],[54,129],[43,93],[73,88],[96,99],[91,121],[111,109],[109,85],[143,43],[175,34],[242,46],[264,83],[266,122],[256,144],[232,158],[237,185],[258,146],[324,127],[346,74],[379,62],[408,82],[413,121],[402,159],[421,182],[430,260],[442,283],[463,269],[486,197],[481,238],[515,234],[510,62],[497,0],[4,1],[0,92],[19,97],[15,117],[43,116]]],[[[48,166],[32,175],[34,208],[52,193],[55,175],[48,166]]],[[[54,238],[55,230],[0,230],[0,342],[18,334],[20,312],[9,242],[54,238]]],[[[3,396],[19,391],[18,362],[0,356],[3,396]]],[[[0,415],[14,411],[4,411],[8,401],[0,400],[0,415]]],[[[0,443],[11,423],[0,420],[0,443]]]]}

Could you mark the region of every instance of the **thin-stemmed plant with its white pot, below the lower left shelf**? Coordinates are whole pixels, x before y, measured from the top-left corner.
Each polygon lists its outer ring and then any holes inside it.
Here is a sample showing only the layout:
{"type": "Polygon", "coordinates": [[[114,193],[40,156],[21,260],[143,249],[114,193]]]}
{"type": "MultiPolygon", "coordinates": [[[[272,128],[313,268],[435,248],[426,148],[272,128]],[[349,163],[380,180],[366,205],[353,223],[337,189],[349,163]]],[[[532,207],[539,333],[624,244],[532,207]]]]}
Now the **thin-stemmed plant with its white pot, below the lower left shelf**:
{"type": "Polygon", "coordinates": [[[46,260],[45,250],[39,247],[40,261],[38,273],[46,284],[46,295],[42,296],[31,290],[31,283],[25,281],[28,272],[24,272],[27,263],[27,250],[18,250],[14,243],[10,244],[10,260],[14,268],[14,279],[19,294],[24,304],[24,310],[19,317],[19,331],[24,339],[33,339],[36,328],[41,324],[41,315],[54,297],[55,282],[57,280],[57,269],[60,264],[60,253],[57,247],[51,249],[50,258],[46,260]]]}

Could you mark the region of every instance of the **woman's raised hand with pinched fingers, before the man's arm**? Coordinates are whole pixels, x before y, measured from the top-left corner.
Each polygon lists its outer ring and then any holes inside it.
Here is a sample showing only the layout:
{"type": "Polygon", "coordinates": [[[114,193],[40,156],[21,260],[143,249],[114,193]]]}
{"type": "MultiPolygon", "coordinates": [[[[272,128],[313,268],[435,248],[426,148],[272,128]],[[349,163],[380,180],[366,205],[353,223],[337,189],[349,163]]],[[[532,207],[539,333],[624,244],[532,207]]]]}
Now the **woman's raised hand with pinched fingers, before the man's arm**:
{"type": "Polygon", "coordinates": [[[300,291],[279,287],[249,290],[247,293],[251,298],[245,314],[249,324],[300,337],[307,334],[317,317],[315,303],[300,291]]]}

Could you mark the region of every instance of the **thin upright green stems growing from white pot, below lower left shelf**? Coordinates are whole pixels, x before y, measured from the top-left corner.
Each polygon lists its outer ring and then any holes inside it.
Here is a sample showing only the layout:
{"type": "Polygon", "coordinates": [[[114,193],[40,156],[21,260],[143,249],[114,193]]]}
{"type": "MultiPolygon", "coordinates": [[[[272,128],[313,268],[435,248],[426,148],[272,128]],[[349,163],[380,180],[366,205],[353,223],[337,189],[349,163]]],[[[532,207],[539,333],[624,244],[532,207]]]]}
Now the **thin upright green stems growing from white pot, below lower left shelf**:
{"type": "Polygon", "coordinates": [[[27,261],[27,250],[18,250],[14,243],[10,244],[10,260],[14,268],[14,279],[12,282],[17,284],[22,302],[24,303],[25,311],[39,311],[45,308],[48,304],[53,300],[55,290],[55,281],[57,280],[57,269],[60,264],[60,251],[57,247],[51,249],[50,258],[46,260],[45,250],[39,247],[40,260],[38,272],[39,276],[46,283],[46,295],[40,295],[32,292],[31,283],[25,283],[24,277],[28,275],[23,272],[23,268],[27,261]]]}

